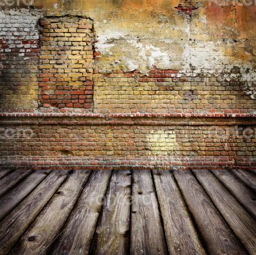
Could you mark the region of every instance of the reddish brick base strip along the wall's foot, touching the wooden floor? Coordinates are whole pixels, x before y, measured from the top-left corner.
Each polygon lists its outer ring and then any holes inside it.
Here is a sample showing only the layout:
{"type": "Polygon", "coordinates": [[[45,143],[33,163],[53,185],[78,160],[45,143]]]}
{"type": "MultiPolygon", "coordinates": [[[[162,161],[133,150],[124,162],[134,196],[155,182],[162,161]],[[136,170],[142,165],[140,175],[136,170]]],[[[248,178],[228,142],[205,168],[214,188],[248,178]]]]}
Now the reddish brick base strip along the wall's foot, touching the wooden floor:
{"type": "Polygon", "coordinates": [[[9,157],[0,169],[256,169],[256,157],[9,157]]]}

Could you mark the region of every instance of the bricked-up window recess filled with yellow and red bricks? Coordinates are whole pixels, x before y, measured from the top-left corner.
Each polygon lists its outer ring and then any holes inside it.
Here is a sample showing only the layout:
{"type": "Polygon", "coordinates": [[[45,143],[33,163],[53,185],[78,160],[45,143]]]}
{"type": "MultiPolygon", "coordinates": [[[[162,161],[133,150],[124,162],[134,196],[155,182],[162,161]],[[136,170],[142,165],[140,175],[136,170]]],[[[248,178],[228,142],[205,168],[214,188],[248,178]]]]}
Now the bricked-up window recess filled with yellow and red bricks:
{"type": "Polygon", "coordinates": [[[40,107],[92,108],[93,22],[77,16],[40,19],[40,107]]]}

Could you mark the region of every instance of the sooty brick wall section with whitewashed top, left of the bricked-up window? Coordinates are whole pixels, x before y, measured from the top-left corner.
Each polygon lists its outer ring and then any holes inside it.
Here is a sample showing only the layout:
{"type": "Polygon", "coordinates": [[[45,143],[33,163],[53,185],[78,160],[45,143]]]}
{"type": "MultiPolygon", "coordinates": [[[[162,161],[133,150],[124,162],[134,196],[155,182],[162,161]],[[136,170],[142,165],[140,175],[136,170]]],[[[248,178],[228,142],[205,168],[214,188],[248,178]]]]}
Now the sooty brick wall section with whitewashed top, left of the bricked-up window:
{"type": "Polygon", "coordinates": [[[38,15],[0,11],[0,111],[34,111],[38,100],[38,15]]]}

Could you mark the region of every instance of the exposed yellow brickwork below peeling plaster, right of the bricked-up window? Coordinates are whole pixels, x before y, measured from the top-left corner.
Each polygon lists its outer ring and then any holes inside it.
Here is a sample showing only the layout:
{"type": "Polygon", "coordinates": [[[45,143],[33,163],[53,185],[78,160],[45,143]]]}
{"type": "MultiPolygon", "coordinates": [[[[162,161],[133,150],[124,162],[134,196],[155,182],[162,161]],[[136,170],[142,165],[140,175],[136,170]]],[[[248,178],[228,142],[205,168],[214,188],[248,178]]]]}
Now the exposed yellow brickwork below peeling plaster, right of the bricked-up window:
{"type": "MultiPolygon", "coordinates": [[[[100,60],[99,60],[100,61],[100,60]]],[[[221,75],[187,75],[157,69],[95,74],[95,112],[255,112],[256,104],[243,89],[239,68],[221,75]]]]}

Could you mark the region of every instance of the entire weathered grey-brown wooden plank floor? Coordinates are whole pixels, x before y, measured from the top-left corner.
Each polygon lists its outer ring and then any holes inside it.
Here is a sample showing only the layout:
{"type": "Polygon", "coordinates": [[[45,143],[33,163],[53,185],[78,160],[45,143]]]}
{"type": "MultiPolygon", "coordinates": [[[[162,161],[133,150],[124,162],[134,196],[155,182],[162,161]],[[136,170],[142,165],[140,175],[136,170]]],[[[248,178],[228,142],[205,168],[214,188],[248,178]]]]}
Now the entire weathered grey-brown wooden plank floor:
{"type": "Polygon", "coordinates": [[[1,171],[0,254],[256,254],[252,171],[1,171]]]}

